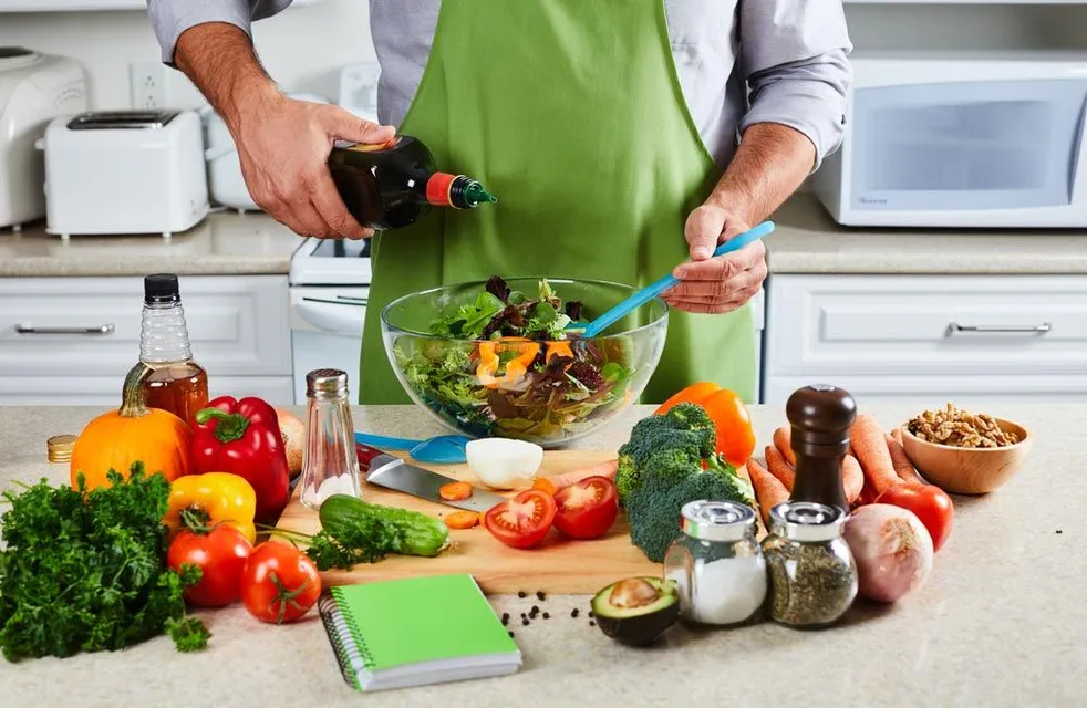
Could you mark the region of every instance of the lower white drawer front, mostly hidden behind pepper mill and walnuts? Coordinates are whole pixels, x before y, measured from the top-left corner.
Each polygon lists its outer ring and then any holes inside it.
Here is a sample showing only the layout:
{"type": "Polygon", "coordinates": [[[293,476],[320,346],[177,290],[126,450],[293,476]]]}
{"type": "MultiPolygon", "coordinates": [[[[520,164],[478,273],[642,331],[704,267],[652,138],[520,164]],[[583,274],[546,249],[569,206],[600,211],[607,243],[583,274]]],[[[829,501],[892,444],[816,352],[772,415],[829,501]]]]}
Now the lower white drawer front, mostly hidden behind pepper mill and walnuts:
{"type": "Polygon", "coordinates": [[[793,392],[812,384],[848,391],[858,407],[899,402],[922,408],[954,403],[964,408],[1014,417],[1017,403],[1087,403],[1087,375],[1079,376],[767,376],[764,403],[784,406],[793,392]]]}

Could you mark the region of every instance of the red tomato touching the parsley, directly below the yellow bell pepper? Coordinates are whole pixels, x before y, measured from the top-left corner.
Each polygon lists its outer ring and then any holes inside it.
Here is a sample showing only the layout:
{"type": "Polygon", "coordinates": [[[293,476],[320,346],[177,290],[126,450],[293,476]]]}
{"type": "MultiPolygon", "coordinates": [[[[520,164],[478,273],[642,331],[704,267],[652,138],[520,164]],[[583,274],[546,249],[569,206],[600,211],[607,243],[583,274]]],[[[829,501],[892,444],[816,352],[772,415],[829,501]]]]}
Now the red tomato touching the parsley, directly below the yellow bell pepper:
{"type": "Polygon", "coordinates": [[[220,523],[208,533],[183,530],[169,544],[166,564],[179,571],[182,564],[200,569],[200,582],[185,589],[185,600],[199,607],[225,607],[241,594],[239,581],[252,543],[236,528],[220,523]]]}

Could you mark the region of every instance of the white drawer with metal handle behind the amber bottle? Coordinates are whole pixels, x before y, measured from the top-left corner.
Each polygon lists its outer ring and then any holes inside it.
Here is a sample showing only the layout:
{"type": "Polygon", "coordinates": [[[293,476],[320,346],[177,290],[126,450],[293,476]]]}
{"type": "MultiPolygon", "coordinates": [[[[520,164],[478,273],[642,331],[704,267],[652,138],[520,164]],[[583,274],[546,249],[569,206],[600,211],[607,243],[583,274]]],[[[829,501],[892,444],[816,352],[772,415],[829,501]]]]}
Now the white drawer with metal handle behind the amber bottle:
{"type": "MultiPolygon", "coordinates": [[[[290,374],[286,277],[183,277],[180,289],[193,356],[210,375],[290,374]]],[[[139,356],[142,309],[143,278],[0,279],[0,376],[120,382],[139,356]]]]}

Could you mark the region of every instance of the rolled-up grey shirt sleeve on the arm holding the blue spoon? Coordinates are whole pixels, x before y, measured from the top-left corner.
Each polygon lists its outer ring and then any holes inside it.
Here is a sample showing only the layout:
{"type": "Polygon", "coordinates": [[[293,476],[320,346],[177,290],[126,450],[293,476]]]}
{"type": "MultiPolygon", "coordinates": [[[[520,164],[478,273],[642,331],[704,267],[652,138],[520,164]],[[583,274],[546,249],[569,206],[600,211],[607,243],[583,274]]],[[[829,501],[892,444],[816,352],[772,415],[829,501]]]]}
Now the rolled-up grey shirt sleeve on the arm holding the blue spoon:
{"type": "Polygon", "coordinates": [[[741,0],[739,59],[750,107],[739,131],[779,123],[816,149],[812,170],[841,144],[852,87],[841,0],[741,0]]]}

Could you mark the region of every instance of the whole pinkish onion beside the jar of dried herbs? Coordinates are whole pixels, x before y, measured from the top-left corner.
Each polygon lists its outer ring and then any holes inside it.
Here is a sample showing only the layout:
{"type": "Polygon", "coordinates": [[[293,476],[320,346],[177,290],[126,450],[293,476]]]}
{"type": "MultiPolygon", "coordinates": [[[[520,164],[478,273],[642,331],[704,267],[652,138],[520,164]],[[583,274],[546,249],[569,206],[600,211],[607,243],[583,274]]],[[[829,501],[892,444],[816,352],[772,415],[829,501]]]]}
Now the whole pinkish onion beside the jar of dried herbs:
{"type": "Polygon", "coordinates": [[[846,522],[846,543],[857,561],[859,594],[894,602],[924,584],[932,570],[932,537],[917,514],[891,504],[868,504],[846,522]]]}

